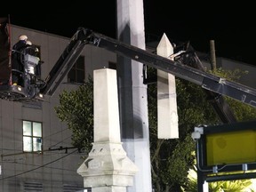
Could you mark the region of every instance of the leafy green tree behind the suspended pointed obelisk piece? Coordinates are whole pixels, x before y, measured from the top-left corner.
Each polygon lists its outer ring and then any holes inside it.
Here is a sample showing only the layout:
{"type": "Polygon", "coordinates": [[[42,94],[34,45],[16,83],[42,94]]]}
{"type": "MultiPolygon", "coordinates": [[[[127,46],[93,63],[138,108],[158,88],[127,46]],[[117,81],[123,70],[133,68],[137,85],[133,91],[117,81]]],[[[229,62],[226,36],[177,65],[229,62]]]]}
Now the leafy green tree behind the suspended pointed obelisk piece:
{"type": "MultiPolygon", "coordinates": [[[[149,76],[156,69],[148,68],[149,76]]],[[[191,132],[198,124],[217,124],[218,116],[196,84],[176,78],[179,139],[157,139],[156,84],[148,84],[148,122],[153,185],[156,191],[180,191],[188,181],[188,170],[195,162],[195,142],[191,132]]]]}

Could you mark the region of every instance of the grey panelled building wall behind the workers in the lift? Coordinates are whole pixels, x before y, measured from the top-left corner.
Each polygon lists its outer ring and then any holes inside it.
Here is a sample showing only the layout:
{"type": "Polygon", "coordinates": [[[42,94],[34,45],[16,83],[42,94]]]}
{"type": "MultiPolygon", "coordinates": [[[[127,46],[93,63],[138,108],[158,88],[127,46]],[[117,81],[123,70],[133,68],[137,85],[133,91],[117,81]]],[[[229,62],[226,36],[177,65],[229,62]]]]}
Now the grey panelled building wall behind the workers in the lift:
{"type": "MultiPolygon", "coordinates": [[[[48,75],[69,43],[69,38],[19,26],[10,26],[11,47],[20,35],[38,46],[42,79],[48,75]]],[[[94,69],[113,67],[116,54],[92,47],[84,48],[56,92],[44,101],[24,103],[0,100],[0,191],[84,191],[83,178],[76,170],[83,153],[71,146],[67,124],[60,122],[54,107],[63,90],[83,84],[94,69]]]]}

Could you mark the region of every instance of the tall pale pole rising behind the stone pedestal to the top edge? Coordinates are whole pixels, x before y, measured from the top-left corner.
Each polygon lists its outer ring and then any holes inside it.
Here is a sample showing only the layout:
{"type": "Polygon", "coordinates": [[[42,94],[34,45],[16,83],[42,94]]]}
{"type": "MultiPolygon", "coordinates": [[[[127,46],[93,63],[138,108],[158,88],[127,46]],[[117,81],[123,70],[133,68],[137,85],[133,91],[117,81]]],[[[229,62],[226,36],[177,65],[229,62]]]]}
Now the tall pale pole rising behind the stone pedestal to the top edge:
{"type": "MultiPolygon", "coordinates": [[[[117,39],[145,49],[143,0],[116,0],[117,39]]],[[[147,85],[143,64],[117,57],[121,141],[127,156],[139,168],[129,192],[151,192],[147,85]]]]}

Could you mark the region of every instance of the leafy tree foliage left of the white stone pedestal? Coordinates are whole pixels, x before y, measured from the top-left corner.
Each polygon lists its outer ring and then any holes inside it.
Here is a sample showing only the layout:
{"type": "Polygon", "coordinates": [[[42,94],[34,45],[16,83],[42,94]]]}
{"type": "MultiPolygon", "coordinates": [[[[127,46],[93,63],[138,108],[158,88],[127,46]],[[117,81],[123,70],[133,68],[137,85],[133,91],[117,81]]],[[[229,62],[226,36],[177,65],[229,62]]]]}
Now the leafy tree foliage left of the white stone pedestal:
{"type": "Polygon", "coordinates": [[[62,122],[73,132],[72,144],[85,151],[92,149],[93,141],[93,82],[88,81],[76,91],[60,94],[60,106],[55,108],[62,122]]]}

